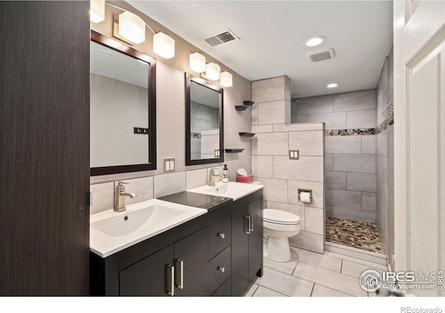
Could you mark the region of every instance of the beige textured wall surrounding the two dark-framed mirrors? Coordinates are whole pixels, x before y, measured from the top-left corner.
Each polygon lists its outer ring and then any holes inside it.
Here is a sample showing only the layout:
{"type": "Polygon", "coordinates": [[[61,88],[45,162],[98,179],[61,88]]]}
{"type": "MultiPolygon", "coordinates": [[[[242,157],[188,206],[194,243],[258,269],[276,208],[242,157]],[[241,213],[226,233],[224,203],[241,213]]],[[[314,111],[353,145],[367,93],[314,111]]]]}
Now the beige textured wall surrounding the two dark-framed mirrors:
{"type": "MultiPolygon", "coordinates": [[[[152,33],[146,29],[146,41],[133,45],[133,48],[143,51],[145,54],[156,58],[156,123],[157,123],[157,169],[147,172],[133,172],[119,175],[104,175],[100,177],[91,177],[91,184],[99,184],[103,182],[114,182],[119,180],[128,180],[138,178],[138,184],[145,182],[147,188],[152,188],[152,196],[156,197],[160,194],[175,193],[184,191],[186,185],[192,183],[192,179],[197,179],[202,184],[205,184],[203,179],[205,168],[211,165],[202,166],[186,166],[185,165],[185,72],[190,72],[198,76],[197,73],[191,72],[188,67],[188,56],[191,51],[197,50],[186,40],[180,38],[172,31],[165,29],[159,23],[150,19],[143,13],[129,6],[123,1],[111,1],[113,5],[120,6],[139,17],[143,18],[145,22],[154,29],[154,31],[166,31],[175,39],[175,57],[168,60],[156,56],[152,52],[152,33]],[[175,173],[163,174],[163,158],[175,157],[175,173]],[[197,172],[202,175],[191,174],[188,175],[186,171],[199,170],[197,172]],[[161,177],[157,177],[161,176],[161,177]],[[142,177],[149,177],[147,179],[139,179],[142,177]],[[186,179],[188,177],[188,179],[186,179]],[[151,185],[150,185],[151,184],[151,185]],[[159,186],[159,188],[156,187],[159,186]],[[169,186],[162,188],[163,186],[169,186]],[[162,190],[160,192],[159,190],[162,190]],[[156,194],[157,192],[157,194],[156,194]]],[[[98,24],[91,23],[91,29],[98,31],[103,35],[113,38],[113,14],[122,13],[122,10],[106,6],[106,19],[104,22],[98,24]]],[[[243,100],[248,100],[251,97],[251,83],[240,75],[236,74],[222,63],[214,60],[206,55],[209,61],[218,63],[221,70],[229,70],[233,75],[233,87],[224,88],[224,129],[225,129],[225,147],[226,148],[243,148],[243,153],[225,154],[225,162],[228,164],[230,180],[236,180],[236,169],[245,168],[248,172],[251,171],[251,144],[250,138],[241,138],[238,135],[240,131],[250,131],[250,114],[236,111],[234,106],[243,103],[243,100]]],[[[215,166],[223,166],[223,163],[216,163],[215,166]]],[[[205,178],[205,177],[204,177],[205,178]]],[[[196,182],[196,181],[194,181],[196,182]]],[[[130,190],[130,185],[129,190],[130,190]]],[[[92,189],[99,188],[99,186],[92,186],[92,189]]]]}

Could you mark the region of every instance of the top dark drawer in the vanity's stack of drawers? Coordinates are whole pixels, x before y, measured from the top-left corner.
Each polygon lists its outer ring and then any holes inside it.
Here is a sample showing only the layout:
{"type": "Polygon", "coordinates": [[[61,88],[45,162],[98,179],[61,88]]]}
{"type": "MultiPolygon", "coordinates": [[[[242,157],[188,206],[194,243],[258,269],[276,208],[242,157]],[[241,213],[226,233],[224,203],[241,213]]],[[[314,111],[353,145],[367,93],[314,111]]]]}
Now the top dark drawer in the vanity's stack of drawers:
{"type": "Polygon", "coordinates": [[[209,259],[218,255],[232,242],[230,214],[209,225],[209,259]]]}

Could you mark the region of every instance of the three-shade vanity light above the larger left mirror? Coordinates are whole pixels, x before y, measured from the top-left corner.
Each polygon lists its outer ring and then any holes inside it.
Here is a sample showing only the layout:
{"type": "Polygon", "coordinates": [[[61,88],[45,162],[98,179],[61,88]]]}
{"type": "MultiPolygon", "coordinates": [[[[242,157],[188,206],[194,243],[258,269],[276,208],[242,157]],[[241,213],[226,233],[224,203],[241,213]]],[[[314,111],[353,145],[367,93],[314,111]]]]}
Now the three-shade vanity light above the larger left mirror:
{"type": "MultiPolygon", "coordinates": [[[[106,3],[108,6],[113,6],[110,3],[106,3]]],[[[124,12],[119,15],[119,35],[126,40],[133,43],[141,43],[145,41],[145,26],[154,33],[153,35],[153,52],[163,58],[172,58],[175,56],[175,40],[169,35],[159,31],[156,33],[148,26],[143,19],[138,15],[131,13],[118,6],[113,6],[123,10],[124,12]]],[[[105,19],[105,1],[104,0],[91,0],[90,1],[90,20],[91,22],[99,23],[105,19]]]]}

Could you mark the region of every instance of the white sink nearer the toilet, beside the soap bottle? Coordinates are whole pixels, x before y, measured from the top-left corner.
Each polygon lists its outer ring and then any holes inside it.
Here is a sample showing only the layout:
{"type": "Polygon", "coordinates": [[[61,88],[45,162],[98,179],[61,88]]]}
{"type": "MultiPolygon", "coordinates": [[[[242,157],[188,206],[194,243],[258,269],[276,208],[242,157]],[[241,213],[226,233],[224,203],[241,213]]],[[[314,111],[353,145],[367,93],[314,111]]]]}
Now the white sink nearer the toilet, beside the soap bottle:
{"type": "Polygon", "coordinates": [[[255,191],[263,188],[263,185],[259,184],[245,184],[238,182],[218,182],[214,187],[200,186],[188,190],[191,193],[204,193],[205,195],[219,195],[220,197],[232,198],[238,200],[239,198],[254,193],[255,191]]]}

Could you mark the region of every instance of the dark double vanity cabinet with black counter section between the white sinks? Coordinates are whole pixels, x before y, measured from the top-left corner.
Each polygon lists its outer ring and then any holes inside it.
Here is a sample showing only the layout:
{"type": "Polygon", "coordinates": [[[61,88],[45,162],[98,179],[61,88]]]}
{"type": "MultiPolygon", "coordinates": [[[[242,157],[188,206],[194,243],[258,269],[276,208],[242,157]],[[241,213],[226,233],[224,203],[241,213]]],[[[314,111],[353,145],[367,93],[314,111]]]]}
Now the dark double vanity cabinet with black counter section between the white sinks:
{"type": "Polygon", "coordinates": [[[90,252],[90,293],[240,296],[263,271],[262,186],[254,189],[236,200],[188,191],[159,198],[207,213],[106,257],[90,252]]]}

